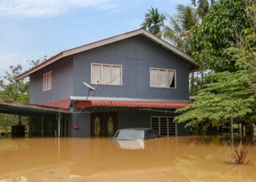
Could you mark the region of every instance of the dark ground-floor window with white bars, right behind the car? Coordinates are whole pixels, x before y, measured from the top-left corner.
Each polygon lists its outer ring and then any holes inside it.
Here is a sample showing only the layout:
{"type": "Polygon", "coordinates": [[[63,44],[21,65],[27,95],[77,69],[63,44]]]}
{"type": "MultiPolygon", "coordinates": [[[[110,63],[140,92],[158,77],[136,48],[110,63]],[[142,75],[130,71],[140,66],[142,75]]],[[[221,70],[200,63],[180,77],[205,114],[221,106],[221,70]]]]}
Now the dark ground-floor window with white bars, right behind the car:
{"type": "Polygon", "coordinates": [[[151,128],[157,130],[159,135],[177,135],[177,123],[171,116],[151,116],[151,128]]]}

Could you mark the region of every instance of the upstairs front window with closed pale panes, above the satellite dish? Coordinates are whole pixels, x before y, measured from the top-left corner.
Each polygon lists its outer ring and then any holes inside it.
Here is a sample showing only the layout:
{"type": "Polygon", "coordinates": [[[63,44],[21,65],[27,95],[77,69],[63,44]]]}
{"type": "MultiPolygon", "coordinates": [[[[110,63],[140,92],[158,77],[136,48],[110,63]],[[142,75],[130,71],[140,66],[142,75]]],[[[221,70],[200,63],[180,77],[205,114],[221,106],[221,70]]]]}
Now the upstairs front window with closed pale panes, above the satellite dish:
{"type": "Polygon", "coordinates": [[[122,66],[109,64],[91,64],[91,84],[122,84],[122,66]]]}

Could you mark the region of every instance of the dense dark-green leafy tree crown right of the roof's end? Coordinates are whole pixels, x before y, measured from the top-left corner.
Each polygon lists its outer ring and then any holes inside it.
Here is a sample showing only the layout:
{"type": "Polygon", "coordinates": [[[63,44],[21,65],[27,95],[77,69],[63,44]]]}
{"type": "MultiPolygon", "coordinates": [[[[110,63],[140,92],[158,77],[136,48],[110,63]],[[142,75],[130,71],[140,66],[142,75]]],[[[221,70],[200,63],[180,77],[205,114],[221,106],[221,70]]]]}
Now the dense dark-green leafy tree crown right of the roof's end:
{"type": "Polygon", "coordinates": [[[236,58],[225,52],[236,46],[236,35],[252,27],[242,0],[220,0],[212,4],[200,25],[192,29],[192,55],[202,70],[237,71],[236,58]]]}

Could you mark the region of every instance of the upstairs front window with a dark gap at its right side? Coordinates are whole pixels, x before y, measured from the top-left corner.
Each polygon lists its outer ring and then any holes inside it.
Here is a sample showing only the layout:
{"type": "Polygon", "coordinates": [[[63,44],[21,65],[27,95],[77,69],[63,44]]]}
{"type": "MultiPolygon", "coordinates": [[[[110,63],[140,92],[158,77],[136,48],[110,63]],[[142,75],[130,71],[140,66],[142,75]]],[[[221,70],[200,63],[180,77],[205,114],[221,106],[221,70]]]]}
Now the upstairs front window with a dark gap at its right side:
{"type": "Polygon", "coordinates": [[[150,68],[150,87],[176,88],[176,71],[150,68]]]}

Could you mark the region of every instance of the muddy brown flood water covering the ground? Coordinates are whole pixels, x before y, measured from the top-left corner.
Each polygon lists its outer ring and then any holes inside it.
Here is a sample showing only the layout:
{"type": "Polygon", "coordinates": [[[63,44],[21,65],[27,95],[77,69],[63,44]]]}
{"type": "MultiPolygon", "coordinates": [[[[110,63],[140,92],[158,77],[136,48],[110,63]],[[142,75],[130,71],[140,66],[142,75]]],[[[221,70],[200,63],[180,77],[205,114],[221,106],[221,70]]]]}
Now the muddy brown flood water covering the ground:
{"type": "Polygon", "coordinates": [[[229,149],[221,137],[0,139],[0,181],[256,181],[256,145],[248,165],[229,149]]]}

